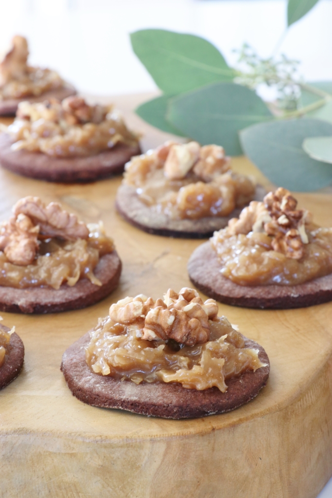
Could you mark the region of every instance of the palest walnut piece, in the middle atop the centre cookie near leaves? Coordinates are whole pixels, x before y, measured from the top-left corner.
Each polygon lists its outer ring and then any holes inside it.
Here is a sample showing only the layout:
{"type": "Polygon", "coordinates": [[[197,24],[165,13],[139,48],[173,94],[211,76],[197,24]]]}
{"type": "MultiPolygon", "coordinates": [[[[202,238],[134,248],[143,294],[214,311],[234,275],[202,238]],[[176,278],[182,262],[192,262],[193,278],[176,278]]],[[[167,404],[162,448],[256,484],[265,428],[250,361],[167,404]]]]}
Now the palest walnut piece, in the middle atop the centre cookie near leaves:
{"type": "Polygon", "coordinates": [[[164,164],[165,176],[170,180],[184,178],[198,160],[200,149],[198,142],[172,145],[164,164]]]}

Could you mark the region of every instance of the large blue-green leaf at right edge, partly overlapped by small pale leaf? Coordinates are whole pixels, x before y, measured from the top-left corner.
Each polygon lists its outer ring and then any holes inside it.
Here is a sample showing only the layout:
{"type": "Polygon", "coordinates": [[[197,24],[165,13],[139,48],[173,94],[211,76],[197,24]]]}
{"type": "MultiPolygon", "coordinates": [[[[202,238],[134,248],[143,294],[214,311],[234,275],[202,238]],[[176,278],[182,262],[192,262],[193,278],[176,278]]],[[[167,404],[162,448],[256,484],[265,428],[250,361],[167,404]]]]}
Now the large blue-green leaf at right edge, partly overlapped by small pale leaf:
{"type": "Polygon", "coordinates": [[[302,148],[308,136],[332,135],[332,124],[320,120],[275,121],[240,133],[249,159],[280,187],[308,192],[332,183],[332,168],[309,157],[302,148]]]}

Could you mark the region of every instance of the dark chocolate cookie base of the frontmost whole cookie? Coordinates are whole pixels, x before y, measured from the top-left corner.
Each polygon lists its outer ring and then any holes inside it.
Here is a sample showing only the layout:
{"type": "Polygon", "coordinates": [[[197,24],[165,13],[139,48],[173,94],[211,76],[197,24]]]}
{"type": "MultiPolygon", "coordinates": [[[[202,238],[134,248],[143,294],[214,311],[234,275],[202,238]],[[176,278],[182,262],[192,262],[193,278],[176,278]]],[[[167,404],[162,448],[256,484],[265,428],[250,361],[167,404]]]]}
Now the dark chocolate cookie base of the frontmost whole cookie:
{"type": "Polygon", "coordinates": [[[266,367],[248,371],[226,381],[228,389],[218,387],[203,391],[186,389],[180,383],[142,382],[113,379],[90,370],[85,361],[87,333],[70,346],[62,357],[61,370],[73,395],[80,401],[103,408],[117,408],[142,415],[163,418],[194,418],[223,413],[238,408],[257,396],[270,372],[264,349],[245,338],[246,348],[259,349],[259,358],[266,367]]]}

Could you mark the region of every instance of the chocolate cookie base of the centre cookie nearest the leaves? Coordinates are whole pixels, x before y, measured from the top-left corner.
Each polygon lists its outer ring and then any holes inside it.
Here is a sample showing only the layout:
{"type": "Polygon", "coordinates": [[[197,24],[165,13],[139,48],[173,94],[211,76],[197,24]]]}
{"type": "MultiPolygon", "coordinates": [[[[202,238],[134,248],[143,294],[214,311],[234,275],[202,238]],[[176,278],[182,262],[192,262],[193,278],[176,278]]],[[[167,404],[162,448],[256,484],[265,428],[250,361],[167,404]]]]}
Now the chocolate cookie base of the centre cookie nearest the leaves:
{"type": "MultiPolygon", "coordinates": [[[[263,200],[265,190],[257,185],[254,199],[263,200]]],[[[136,189],[122,184],[116,194],[115,206],[118,213],[134,227],[148,234],[178,237],[182,239],[206,239],[216,230],[227,226],[231,218],[238,218],[242,208],[232,211],[229,216],[206,217],[199,220],[172,220],[163,213],[157,213],[153,208],[139,200],[136,189]]]]}

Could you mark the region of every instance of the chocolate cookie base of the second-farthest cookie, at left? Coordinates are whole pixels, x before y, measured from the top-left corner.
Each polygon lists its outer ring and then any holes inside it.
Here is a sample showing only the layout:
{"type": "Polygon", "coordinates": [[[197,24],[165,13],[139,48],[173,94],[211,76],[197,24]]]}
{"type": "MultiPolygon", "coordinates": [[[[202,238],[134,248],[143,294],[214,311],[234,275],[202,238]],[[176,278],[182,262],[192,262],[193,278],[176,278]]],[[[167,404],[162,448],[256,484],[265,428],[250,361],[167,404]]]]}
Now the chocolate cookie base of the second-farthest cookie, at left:
{"type": "Polygon", "coordinates": [[[0,135],[0,164],[14,173],[49,182],[91,182],[122,173],[124,164],[140,148],[123,144],[87,157],[50,157],[42,152],[11,150],[12,140],[6,133],[0,135]]]}

